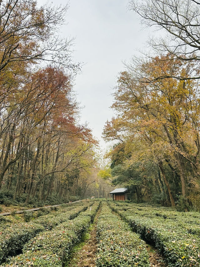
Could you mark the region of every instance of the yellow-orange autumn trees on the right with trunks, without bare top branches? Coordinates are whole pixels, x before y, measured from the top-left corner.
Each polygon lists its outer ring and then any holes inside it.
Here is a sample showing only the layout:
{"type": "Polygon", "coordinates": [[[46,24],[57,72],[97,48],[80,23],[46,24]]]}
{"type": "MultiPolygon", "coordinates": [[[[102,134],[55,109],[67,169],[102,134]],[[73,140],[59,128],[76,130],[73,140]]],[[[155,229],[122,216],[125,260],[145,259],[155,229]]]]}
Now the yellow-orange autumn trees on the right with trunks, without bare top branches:
{"type": "Polygon", "coordinates": [[[119,141],[108,155],[113,177],[132,186],[138,202],[198,206],[199,81],[163,78],[192,71],[191,62],[160,56],[119,75],[112,105],[118,116],[103,135],[119,141]]]}

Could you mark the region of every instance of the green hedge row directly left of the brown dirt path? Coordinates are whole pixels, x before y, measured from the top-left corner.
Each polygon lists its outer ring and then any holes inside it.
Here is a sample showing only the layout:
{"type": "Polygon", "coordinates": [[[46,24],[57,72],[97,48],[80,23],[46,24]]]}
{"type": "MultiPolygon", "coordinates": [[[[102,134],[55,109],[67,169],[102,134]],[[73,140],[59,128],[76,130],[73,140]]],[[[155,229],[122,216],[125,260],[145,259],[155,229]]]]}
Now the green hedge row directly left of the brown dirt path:
{"type": "Polygon", "coordinates": [[[91,216],[87,212],[82,212],[74,220],[59,224],[51,231],[37,235],[24,246],[23,254],[13,257],[2,266],[62,267],[69,258],[72,247],[88,230],[91,216]]]}

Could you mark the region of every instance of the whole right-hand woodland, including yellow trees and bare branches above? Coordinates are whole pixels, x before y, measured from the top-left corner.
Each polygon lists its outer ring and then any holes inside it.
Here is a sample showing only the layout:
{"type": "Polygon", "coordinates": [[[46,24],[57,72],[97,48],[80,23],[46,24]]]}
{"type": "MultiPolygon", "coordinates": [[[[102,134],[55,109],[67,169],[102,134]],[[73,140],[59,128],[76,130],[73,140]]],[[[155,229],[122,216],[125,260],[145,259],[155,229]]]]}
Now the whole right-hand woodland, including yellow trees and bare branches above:
{"type": "Polygon", "coordinates": [[[102,177],[125,183],[137,203],[199,209],[199,3],[129,1],[146,27],[166,36],[149,40],[118,75],[116,116],[103,136],[115,145],[102,177]]]}

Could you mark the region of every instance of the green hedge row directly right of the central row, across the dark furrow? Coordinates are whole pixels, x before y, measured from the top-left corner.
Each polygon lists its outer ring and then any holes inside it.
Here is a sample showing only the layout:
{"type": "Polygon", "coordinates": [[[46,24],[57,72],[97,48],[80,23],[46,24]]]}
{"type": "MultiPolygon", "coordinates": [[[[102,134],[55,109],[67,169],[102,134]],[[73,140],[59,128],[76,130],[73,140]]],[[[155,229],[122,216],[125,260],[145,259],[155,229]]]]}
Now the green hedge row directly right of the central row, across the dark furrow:
{"type": "Polygon", "coordinates": [[[156,216],[151,207],[149,207],[151,214],[147,214],[144,210],[134,208],[124,210],[121,208],[123,204],[110,205],[113,211],[118,212],[129,223],[134,232],[155,245],[165,257],[169,267],[200,266],[199,235],[188,233],[187,227],[184,227],[184,220],[181,222],[182,215],[172,220],[156,216]]]}

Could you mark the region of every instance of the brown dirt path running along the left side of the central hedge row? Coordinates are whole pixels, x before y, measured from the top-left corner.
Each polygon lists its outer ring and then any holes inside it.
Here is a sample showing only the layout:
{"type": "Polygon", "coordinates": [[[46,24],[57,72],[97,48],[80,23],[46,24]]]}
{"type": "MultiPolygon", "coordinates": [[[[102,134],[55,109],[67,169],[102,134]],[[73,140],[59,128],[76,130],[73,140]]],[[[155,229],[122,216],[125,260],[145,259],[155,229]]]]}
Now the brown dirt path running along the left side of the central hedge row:
{"type": "Polygon", "coordinates": [[[73,254],[68,267],[95,267],[96,251],[97,251],[97,221],[101,212],[99,208],[94,217],[85,239],[73,249],[73,254]]]}

